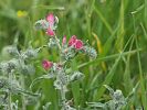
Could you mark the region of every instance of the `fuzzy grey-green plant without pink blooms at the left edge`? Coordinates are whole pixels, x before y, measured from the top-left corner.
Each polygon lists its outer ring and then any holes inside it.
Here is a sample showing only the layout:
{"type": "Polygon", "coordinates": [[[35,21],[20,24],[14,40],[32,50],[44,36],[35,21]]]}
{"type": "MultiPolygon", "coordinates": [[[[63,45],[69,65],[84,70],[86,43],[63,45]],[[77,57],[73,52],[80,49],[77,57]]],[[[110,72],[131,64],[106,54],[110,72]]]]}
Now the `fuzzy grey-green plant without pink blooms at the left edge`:
{"type": "Polygon", "coordinates": [[[38,50],[29,47],[25,51],[19,51],[15,45],[4,47],[11,57],[9,61],[0,63],[0,108],[3,110],[18,110],[19,100],[12,101],[13,95],[22,95],[22,107],[25,110],[24,96],[38,96],[24,88],[23,76],[35,73],[33,64],[29,62],[36,58],[38,50]]]}

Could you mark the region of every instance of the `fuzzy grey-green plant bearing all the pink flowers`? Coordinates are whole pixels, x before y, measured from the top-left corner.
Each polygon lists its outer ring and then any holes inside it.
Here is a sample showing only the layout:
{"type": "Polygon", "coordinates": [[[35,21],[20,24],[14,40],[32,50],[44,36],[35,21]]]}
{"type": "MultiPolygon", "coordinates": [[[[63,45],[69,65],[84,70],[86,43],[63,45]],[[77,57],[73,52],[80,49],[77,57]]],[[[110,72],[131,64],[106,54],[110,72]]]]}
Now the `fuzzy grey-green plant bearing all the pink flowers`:
{"type": "Polygon", "coordinates": [[[69,91],[67,86],[72,81],[80,80],[84,77],[84,74],[76,70],[67,73],[69,63],[80,53],[86,54],[92,58],[96,58],[96,51],[86,45],[82,40],[77,38],[76,35],[72,35],[67,41],[67,37],[64,35],[62,41],[56,36],[55,30],[57,28],[59,19],[53,13],[49,13],[48,16],[43,20],[35,22],[34,26],[36,30],[44,30],[49,36],[49,43],[45,45],[50,50],[57,47],[59,52],[59,62],[54,63],[52,61],[44,59],[42,62],[43,68],[48,74],[36,78],[31,84],[30,88],[42,78],[53,78],[54,87],[60,91],[61,98],[61,110],[76,110],[74,107],[69,105],[66,99],[66,92],[69,91]]]}

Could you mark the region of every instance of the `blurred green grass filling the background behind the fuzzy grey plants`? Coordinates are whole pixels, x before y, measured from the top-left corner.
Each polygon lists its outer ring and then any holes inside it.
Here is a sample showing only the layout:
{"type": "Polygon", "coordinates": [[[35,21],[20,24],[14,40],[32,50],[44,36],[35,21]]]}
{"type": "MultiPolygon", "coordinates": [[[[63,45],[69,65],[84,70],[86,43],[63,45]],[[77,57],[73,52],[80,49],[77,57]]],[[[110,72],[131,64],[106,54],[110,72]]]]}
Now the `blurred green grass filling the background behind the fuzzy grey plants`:
{"type": "MultiPolygon", "coordinates": [[[[24,50],[30,43],[33,47],[46,44],[48,36],[36,32],[33,24],[50,12],[60,19],[56,34],[61,40],[63,35],[77,35],[88,40],[98,53],[95,61],[83,55],[73,59],[73,69],[83,72],[85,78],[69,86],[67,99],[74,98],[76,108],[86,107],[86,102],[109,100],[103,85],[120,89],[126,97],[138,84],[126,110],[147,110],[147,0],[0,0],[0,59],[6,58],[2,48],[7,45],[17,43],[24,50]],[[18,11],[28,14],[18,16],[18,11]]],[[[57,55],[54,51],[41,52],[34,61],[36,73],[25,76],[27,89],[35,77],[43,75],[40,72],[44,58],[56,62],[57,55]]],[[[34,91],[38,88],[43,96],[28,110],[41,110],[48,101],[52,102],[51,110],[57,110],[53,80],[39,82],[34,91]]]]}

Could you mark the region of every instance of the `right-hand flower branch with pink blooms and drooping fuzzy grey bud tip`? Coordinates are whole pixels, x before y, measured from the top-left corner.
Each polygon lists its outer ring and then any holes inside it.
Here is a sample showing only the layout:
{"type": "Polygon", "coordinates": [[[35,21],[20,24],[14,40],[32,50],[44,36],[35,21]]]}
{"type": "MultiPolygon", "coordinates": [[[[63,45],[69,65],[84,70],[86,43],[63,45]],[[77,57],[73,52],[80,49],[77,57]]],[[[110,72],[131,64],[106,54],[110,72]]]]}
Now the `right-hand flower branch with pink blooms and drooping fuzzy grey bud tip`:
{"type": "Polygon", "coordinates": [[[61,56],[69,61],[73,58],[78,52],[84,53],[92,58],[96,58],[97,56],[96,51],[92,46],[85,45],[84,42],[78,40],[76,35],[72,35],[67,44],[66,36],[64,36],[62,40],[61,56]]]}

